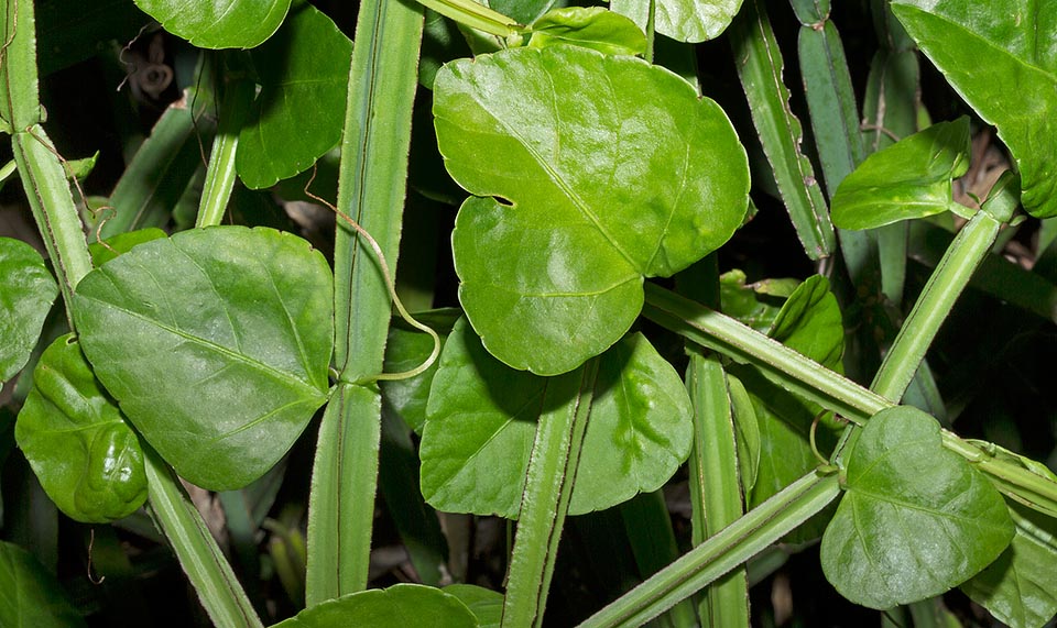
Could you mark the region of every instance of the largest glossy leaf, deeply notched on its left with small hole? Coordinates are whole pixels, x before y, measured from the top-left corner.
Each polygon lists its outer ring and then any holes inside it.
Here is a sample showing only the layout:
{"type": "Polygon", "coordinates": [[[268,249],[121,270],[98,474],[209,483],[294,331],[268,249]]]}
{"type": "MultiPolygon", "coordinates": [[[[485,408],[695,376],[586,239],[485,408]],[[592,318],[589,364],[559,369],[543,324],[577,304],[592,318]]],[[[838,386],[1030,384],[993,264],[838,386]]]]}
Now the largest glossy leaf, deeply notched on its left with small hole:
{"type": "Polygon", "coordinates": [[[514,368],[568,372],[642,308],[643,276],[722,245],[748,207],[744,148],[723,111],[642,59],[577,46],[445,66],[440,153],[471,194],[453,233],[459,297],[514,368]]]}

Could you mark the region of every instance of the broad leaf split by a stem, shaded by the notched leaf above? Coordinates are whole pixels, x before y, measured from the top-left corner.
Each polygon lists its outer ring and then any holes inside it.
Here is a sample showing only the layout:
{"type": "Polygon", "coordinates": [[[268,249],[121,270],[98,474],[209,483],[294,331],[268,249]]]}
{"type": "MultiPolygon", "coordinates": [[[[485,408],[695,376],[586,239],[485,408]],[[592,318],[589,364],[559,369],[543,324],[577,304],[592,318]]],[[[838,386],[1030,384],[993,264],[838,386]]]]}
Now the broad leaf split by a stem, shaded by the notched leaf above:
{"type": "MultiPolygon", "coordinates": [[[[516,518],[536,419],[568,399],[546,377],[488,354],[466,320],[448,337],[422,434],[422,491],[439,510],[516,518]]],[[[602,355],[570,514],[660,488],[690,448],[690,405],[678,374],[639,334],[602,355]]]]}

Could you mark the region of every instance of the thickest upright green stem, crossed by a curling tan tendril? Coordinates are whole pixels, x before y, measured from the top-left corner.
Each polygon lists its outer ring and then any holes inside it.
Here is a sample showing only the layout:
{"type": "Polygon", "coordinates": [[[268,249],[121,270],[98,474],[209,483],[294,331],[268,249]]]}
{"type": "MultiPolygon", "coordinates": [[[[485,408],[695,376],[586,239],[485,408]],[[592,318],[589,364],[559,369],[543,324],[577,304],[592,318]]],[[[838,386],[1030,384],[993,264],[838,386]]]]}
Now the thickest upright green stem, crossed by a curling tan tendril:
{"type": "MultiPolygon", "coordinates": [[[[423,13],[416,4],[363,2],[356,27],[338,176],[338,209],[373,236],[396,273],[411,112],[423,13]]],[[[335,364],[344,383],[319,427],[308,509],[309,606],[367,586],[378,484],[382,372],[392,312],[372,245],[338,222],[335,364]]]]}

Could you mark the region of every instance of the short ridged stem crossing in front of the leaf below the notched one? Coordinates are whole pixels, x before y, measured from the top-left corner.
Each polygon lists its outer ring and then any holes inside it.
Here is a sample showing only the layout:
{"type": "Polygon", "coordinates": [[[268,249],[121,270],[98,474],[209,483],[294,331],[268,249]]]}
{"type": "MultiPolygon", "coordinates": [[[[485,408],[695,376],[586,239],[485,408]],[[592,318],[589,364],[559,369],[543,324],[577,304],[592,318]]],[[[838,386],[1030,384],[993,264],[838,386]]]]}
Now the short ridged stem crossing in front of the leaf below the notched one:
{"type": "Polygon", "coordinates": [[[547,381],[544,398],[568,399],[540,417],[503,599],[503,628],[540,626],[591,411],[598,361],[547,381]]]}

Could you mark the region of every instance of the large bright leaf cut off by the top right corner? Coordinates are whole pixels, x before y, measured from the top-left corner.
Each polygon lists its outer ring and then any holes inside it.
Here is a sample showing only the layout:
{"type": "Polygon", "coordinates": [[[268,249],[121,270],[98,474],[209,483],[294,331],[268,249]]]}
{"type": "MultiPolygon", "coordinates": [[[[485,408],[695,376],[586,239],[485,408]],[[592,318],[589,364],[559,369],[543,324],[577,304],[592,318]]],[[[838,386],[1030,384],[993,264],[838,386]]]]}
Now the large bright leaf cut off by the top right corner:
{"type": "Polygon", "coordinates": [[[998,126],[1024,208],[1057,216],[1057,3],[896,0],[892,11],[947,80],[998,126]]]}

